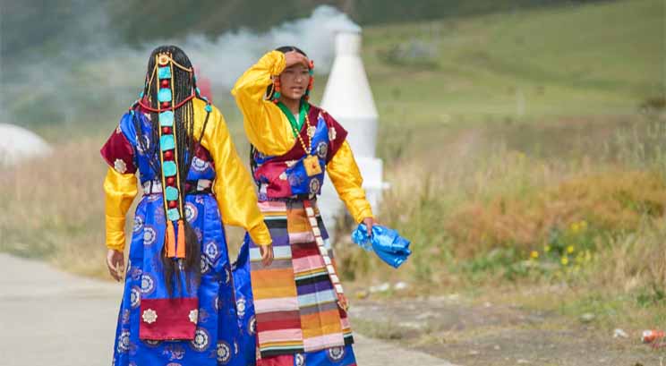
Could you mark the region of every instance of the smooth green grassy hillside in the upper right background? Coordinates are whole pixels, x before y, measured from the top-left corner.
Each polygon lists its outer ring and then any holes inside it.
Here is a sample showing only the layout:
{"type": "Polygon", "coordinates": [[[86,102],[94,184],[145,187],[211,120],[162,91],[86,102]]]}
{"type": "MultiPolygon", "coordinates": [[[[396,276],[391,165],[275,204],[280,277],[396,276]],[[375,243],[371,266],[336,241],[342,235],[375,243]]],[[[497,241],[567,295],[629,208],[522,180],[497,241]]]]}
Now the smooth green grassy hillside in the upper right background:
{"type": "Polygon", "coordinates": [[[664,9],[628,0],[366,29],[383,122],[626,115],[664,91],[664,9]]]}

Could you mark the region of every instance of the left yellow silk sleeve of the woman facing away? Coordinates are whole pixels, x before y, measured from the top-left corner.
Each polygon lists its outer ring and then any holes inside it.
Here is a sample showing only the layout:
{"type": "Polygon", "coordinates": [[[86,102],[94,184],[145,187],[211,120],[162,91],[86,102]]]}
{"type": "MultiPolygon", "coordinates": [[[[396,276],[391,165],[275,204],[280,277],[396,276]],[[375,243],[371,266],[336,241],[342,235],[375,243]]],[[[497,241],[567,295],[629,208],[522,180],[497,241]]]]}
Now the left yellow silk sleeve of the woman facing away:
{"type": "Polygon", "coordinates": [[[136,175],[120,174],[109,167],[104,180],[106,199],[107,248],[123,251],[125,246],[125,215],[138,192],[136,175]]]}

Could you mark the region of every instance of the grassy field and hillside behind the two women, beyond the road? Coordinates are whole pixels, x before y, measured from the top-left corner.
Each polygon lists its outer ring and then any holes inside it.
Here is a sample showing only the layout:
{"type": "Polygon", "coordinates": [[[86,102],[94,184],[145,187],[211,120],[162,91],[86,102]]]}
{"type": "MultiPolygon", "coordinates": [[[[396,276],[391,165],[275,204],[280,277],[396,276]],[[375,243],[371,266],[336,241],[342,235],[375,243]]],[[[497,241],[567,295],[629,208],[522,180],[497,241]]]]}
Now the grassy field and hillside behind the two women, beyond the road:
{"type": "MultiPolygon", "coordinates": [[[[380,221],[414,255],[393,271],[339,243],[346,279],[513,296],[602,325],[666,319],[664,115],[638,113],[663,100],[663,17],[659,0],[624,0],[364,30],[392,183],[380,221]]],[[[244,157],[239,115],[216,101],[244,157]]],[[[74,141],[43,128],[54,157],[0,175],[0,251],[104,275],[97,151],[115,115],[74,141]]]]}

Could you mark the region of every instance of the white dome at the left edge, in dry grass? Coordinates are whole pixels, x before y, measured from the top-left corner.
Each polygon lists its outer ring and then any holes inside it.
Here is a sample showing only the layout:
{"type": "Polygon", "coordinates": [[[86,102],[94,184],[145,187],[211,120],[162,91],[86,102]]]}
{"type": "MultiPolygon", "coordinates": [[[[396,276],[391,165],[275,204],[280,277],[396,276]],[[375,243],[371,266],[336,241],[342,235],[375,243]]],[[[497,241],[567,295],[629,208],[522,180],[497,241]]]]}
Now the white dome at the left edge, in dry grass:
{"type": "Polygon", "coordinates": [[[0,166],[12,166],[23,159],[51,153],[47,141],[29,130],[0,123],[0,166]]]}

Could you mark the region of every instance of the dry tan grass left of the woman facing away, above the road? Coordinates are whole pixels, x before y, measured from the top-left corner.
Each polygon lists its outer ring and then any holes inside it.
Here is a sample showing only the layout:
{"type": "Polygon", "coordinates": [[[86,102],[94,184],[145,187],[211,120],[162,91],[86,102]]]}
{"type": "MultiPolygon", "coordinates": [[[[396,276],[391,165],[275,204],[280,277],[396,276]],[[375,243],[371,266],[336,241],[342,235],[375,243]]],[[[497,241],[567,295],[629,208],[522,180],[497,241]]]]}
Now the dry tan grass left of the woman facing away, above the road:
{"type": "Polygon", "coordinates": [[[102,139],[75,140],[0,175],[0,251],[104,273],[102,139]]]}

